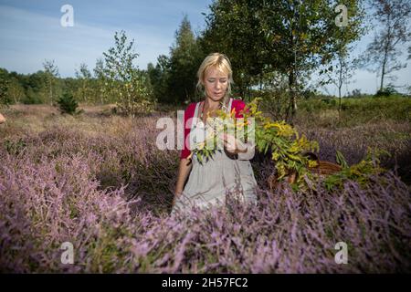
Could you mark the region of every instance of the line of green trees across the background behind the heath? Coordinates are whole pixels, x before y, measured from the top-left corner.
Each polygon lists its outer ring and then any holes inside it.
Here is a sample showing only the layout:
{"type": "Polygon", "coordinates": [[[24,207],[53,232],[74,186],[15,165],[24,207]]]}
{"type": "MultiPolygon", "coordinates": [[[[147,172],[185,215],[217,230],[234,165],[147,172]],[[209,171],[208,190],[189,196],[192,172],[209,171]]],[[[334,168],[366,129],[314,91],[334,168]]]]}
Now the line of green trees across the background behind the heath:
{"type": "Polygon", "coordinates": [[[217,0],[209,8],[203,31],[195,35],[184,16],[169,55],[146,69],[133,65],[139,55],[121,31],[95,68],[82,64],[76,78],[59,78],[52,60],[29,75],[2,69],[0,100],[53,104],[70,92],[79,102],[117,103],[132,115],[158,102],[181,105],[202,98],[196,71],[206,55],[221,52],[234,68],[235,96],[248,100],[257,91],[289,119],[298,99],[316,95],[325,84],[338,89],[341,108],[342,86],[359,66],[374,70],[381,78],[378,94],[389,95],[394,88],[386,80],[406,66],[398,62],[400,46],[411,40],[406,0],[217,0]],[[355,43],[373,28],[370,19],[379,30],[364,54],[354,57],[355,43]],[[313,72],[319,72],[317,83],[313,72]]]}

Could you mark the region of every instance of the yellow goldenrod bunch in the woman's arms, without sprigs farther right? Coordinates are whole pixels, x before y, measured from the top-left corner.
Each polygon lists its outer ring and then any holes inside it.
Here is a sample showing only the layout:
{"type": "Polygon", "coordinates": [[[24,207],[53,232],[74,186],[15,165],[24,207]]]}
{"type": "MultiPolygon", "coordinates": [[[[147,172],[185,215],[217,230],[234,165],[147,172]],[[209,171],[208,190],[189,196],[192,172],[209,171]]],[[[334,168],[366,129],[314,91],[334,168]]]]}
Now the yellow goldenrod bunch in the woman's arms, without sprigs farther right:
{"type": "MultiPolygon", "coordinates": [[[[205,135],[194,141],[191,155],[196,155],[199,162],[207,160],[213,156],[218,145],[222,145],[224,133],[233,133],[237,143],[247,143],[251,141],[257,150],[262,153],[270,151],[271,158],[275,162],[278,179],[297,173],[297,184],[303,183],[303,175],[310,175],[308,167],[315,166],[315,161],[311,161],[304,156],[304,151],[318,151],[316,141],[308,141],[304,135],[288,125],[285,121],[273,121],[264,117],[258,111],[260,99],[253,99],[240,113],[243,119],[236,119],[236,112],[232,110],[227,113],[224,110],[217,111],[217,117],[210,119],[207,116],[207,123],[200,122],[200,132],[205,130],[205,135]],[[202,127],[204,126],[204,128],[202,127]]],[[[191,157],[190,157],[191,158],[191,157]]]]}

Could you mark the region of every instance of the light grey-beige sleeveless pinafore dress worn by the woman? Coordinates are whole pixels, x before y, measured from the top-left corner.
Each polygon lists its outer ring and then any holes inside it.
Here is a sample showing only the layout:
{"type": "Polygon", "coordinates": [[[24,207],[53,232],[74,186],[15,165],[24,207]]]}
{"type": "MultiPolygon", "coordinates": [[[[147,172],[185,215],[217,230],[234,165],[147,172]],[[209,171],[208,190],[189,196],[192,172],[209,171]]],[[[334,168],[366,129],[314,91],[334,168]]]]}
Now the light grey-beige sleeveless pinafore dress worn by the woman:
{"type": "MultiPolygon", "coordinates": [[[[232,99],[228,104],[231,111],[232,99]]],[[[195,105],[194,117],[198,115],[200,102],[195,105]]],[[[199,120],[199,119],[198,119],[199,120]]],[[[192,123],[190,133],[204,130],[201,120],[192,123]]],[[[257,181],[249,162],[254,156],[255,145],[248,143],[246,153],[238,153],[237,159],[227,156],[224,150],[216,150],[211,159],[200,163],[194,154],[192,169],[184,191],[175,200],[172,214],[188,212],[192,205],[200,208],[225,205],[227,192],[237,193],[243,203],[257,203],[257,181]]]]}

